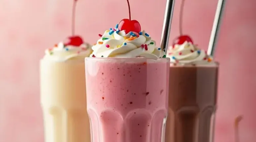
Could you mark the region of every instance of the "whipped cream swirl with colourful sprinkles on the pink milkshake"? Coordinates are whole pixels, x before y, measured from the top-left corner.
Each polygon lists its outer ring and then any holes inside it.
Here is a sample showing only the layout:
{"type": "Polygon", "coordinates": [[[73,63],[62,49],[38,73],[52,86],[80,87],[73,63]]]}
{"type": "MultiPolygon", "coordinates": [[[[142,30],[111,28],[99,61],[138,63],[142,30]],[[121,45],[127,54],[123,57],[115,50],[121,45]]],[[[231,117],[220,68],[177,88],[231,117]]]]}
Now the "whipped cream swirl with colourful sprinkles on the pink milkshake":
{"type": "Polygon", "coordinates": [[[90,57],[145,57],[157,60],[165,55],[145,31],[126,34],[124,30],[112,28],[104,32],[92,50],[90,57]]]}

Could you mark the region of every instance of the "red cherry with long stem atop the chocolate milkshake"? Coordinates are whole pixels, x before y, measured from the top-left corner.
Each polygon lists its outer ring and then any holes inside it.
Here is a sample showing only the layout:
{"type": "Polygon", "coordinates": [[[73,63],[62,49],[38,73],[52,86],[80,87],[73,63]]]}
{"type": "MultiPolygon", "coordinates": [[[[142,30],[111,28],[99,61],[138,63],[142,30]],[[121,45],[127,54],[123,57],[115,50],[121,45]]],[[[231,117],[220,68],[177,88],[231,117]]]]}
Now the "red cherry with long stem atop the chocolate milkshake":
{"type": "Polygon", "coordinates": [[[182,45],[185,41],[191,42],[193,44],[193,40],[190,36],[182,34],[182,17],[183,17],[184,2],[185,2],[185,0],[182,0],[181,7],[180,7],[180,18],[179,18],[180,36],[174,39],[173,45],[176,45],[176,44],[177,45],[182,45]]]}

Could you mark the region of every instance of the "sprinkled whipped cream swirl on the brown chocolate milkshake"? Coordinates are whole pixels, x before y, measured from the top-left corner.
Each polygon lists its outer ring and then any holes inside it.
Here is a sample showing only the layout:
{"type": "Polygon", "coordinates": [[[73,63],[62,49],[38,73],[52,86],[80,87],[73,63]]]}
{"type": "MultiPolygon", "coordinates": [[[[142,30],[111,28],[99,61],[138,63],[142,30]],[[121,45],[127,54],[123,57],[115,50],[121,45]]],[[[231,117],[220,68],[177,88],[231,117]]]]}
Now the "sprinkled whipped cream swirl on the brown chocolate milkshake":
{"type": "Polygon", "coordinates": [[[171,63],[187,64],[209,64],[212,57],[208,56],[205,50],[199,49],[196,45],[185,41],[182,45],[174,45],[167,50],[167,57],[171,63]]]}

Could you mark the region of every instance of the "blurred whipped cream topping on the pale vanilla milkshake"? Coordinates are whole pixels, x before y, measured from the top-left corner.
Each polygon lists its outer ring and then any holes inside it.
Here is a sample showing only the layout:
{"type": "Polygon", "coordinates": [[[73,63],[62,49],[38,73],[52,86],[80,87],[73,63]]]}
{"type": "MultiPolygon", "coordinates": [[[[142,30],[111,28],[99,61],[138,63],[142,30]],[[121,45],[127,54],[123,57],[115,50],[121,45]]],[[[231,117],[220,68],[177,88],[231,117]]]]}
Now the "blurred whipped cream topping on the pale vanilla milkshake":
{"type": "Polygon", "coordinates": [[[88,43],[83,43],[80,46],[65,46],[63,42],[60,42],[58,45],[55,45],[55,47],[46,49],[43,59],[53,61],[84,59],[91,53],[91,45],[88,43]]]}

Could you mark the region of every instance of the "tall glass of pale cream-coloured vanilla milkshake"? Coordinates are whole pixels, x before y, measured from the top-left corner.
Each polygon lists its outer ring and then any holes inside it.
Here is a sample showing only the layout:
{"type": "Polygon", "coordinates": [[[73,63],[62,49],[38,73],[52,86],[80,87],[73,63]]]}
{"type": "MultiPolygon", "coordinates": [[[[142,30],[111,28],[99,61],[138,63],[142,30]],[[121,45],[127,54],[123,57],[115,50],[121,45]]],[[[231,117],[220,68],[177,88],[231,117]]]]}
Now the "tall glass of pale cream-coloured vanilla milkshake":
{"type": "Polygon", "coordinates": [[[90,142],[83,59],[40,61],[45,142],[90,142]]]}

